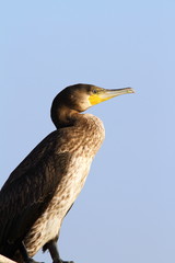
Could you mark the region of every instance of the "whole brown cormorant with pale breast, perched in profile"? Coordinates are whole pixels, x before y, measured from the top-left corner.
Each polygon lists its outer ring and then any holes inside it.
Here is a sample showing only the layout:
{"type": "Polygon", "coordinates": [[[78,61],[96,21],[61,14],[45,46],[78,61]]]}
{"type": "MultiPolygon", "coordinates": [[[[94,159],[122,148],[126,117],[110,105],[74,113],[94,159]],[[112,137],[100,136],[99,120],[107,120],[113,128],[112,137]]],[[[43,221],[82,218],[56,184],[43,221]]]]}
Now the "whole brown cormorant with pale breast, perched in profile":
{"type": "Polygon", "coordinates": [[[43,248],[49,250],[52,263],[68,263],[56,247],[59,230],[105,137],[100,118],[80,113],[126,93],[133,90],[75,84],[54,99],[51,119],[57,129],[19,164],[0,191],[0,254],[32,263],[43,248]]]}

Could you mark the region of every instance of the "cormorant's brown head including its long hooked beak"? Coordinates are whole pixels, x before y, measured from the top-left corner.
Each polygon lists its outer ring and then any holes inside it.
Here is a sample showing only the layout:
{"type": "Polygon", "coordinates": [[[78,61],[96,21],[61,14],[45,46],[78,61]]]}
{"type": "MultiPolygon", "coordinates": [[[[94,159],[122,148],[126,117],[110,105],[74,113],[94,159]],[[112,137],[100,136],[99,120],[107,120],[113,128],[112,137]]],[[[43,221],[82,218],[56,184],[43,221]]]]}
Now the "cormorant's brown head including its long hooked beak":
{"type": "Polygon", "coordinates": [[[81,113],[103,101],[127,93],[135,93],[135,91],[131,88],[107,90],[82,83],[69,85],[55,98],[51,106],[51,119],[56,125],[58,118],[65,117],[68,112],[81,113]]]}

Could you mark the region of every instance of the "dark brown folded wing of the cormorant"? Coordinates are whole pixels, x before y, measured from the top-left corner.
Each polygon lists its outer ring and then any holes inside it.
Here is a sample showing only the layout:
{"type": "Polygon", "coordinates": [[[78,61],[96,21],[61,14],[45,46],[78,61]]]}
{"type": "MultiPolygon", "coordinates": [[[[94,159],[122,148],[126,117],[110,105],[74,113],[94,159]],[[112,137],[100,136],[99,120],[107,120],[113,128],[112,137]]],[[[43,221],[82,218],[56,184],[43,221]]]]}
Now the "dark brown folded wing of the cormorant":
{"type": "Polygon", "coordinates": [[[44,213],[71,153],[59,130],[48,135],[11,173],[0,191],[0,253],[14,253],[44,213]],[[10,252],[10,249],[12,251],[10,252]]]}

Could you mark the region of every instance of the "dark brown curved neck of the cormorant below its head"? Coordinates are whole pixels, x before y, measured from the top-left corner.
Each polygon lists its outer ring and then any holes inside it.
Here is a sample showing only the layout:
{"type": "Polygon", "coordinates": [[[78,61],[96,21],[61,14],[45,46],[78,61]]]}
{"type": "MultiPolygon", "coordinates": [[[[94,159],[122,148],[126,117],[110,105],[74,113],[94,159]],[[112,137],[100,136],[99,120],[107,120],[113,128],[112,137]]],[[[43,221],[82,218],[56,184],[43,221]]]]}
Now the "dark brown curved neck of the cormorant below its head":
{"type": "Polygon", "coordinates": [[[51,119],[57,129],[73,126],[78,118],[81,118],[81,114],[66,105],[60,104],[57,105],[57,108],[51,107],[51,119]]]}

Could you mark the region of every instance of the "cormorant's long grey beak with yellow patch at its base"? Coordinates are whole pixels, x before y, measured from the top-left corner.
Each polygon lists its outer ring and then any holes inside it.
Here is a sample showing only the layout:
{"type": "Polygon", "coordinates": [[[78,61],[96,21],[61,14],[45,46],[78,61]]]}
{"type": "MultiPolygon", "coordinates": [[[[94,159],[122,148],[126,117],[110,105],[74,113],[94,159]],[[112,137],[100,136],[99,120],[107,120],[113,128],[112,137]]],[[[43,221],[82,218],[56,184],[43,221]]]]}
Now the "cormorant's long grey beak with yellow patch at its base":
{"type": "Polygon", "coordinates": [[[128,93],[135,93],[135,90],[131,88],[113,89],[113,90],[106,90],[106,89],[98,88],[97,93],[90,95],[89,100],[90,100],[91,105],[95,105],[103,101],[107,101],[114,96],[128,94],[128,93]]]}

